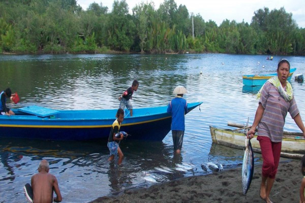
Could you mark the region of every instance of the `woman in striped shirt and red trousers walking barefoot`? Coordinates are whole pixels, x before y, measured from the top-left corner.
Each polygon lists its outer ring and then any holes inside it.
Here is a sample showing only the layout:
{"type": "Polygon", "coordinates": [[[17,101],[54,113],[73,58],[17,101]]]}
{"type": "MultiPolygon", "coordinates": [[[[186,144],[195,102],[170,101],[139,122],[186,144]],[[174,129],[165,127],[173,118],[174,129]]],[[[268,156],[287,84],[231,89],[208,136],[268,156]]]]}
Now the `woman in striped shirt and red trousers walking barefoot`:
{"type": "Polygon", "coordinates": [[[281,154],[283,128],[287,112],[291,115],[305,137],[305,127],[293,96],[291,84],[287,81],[290,71],[289,61],[282,58],[278,62],[277,76],[269,79],[257,93],[259,104],[247,138],[253,138],[258,126],[257,140],[263,156],[260,197],[266,202],[274,183],[281,154]]]}

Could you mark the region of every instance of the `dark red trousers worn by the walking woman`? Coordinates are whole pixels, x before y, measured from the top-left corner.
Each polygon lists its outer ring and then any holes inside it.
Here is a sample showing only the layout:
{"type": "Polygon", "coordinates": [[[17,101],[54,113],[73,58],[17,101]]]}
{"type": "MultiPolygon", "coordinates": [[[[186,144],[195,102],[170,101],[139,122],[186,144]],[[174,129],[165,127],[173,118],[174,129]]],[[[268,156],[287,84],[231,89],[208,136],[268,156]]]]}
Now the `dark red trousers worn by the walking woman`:
{"type": "Polygon", "coordinates": [[[282,142],[271,142],[270,138],[257,136],[263,156],[262,175],[274,179],[280,161],[282,142]]]}

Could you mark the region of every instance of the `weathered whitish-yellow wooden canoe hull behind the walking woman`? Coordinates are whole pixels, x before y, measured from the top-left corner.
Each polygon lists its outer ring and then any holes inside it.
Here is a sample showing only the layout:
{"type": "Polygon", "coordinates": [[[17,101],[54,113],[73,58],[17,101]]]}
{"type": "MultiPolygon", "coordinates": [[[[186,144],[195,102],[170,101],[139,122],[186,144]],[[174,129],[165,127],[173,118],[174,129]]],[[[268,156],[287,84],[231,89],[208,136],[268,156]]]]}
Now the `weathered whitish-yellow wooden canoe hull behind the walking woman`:
{"type": "MultiPolygon", "coordinates": [[[[244,149],[245,134],[243,131],[220,129],[210,126],[212,141],[235,149],[244,149]]],[[[287,133],[288,134],[288,133],[287,133]]],[[[251,139],[253,152],[260,152],[257,134],[251,139]]],[[[301,159],[305,153],[305,138],[296,135],[283,135],[281,156],[290,159],[301,159]]]]}

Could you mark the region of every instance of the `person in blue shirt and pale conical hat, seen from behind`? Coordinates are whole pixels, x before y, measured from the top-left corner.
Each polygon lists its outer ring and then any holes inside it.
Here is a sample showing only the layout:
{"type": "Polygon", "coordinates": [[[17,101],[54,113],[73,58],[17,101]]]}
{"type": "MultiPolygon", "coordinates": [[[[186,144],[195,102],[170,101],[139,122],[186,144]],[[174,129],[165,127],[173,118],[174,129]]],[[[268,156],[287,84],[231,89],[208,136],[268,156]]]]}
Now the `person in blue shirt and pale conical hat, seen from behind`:
{"type": "Polygon", "coordinates": [[[183,142],[183,136],[185,131],[184,116],[188,111],[188,104],[183,99],[183,94],[187,93],[187,90],[183,86],[177,86],[174,89],[174,99],[170,101],[167,107],[167,113],[172,115],[172,122],[170,129],[172,131],[174,152],[180,154],[183,142]]]}

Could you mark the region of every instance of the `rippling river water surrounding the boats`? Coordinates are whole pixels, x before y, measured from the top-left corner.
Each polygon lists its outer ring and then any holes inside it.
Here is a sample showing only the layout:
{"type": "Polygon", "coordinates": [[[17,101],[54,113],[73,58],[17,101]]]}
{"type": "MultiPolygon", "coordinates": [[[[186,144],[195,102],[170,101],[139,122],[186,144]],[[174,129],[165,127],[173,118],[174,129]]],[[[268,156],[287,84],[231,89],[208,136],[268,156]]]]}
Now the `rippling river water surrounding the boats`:
{"type": "MultiPolygon", "coordinates": [[[[202,101],[185,117],[181,156],[173,156],[171,132],[162,142],[128,142],[120,147],[122,166],[109,163],[105,141],[46,141],[0,138],[0,202],[24,202],[23,185],[37,173],[41,159],[50,163],[50,173],[59,182],[63,202],[88,202],[117,194],[127,187],[149,187],[143,179],[156,167],[174,168],[175,163],[195,165],[187,172],[153,173],[158,182],[211,173],[201,169],[209,160],[224,169],[242,164],[243,151],[212,144],[209,125],[226,127],[228,121],[253,122],[258,102],[255,91],[243,87],[243,74],[274,73],[281,56],[267,61],[260,55],[231,54],[81,54],[0,55],[0,89],[10,87],[21,97],[10,108],[39,105],[54,109],[114,109],[119,95],[139,81],[134,108],[167,105],[173,89],[188,89],[188,102],[202,101]],[[264,68],[263,68],[264,66],[264,68]],[[202,72],[202,74],[200,74],[202,72]]],[[[305,73],[305,57],[285,57],[305,73]]],[[[305,121],[305,86],[291,79],[301,117],[305,121]]],[[[162,126],[160,126],[162,128],[162,126]]],[[[290,115],[285,130],[300,131],[290,115]]],[[[286,159],[282,159],[285,161],[286,159]]],[[[262,162],[255,154],[255,164],[262,162]]]]}

